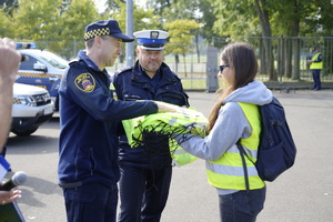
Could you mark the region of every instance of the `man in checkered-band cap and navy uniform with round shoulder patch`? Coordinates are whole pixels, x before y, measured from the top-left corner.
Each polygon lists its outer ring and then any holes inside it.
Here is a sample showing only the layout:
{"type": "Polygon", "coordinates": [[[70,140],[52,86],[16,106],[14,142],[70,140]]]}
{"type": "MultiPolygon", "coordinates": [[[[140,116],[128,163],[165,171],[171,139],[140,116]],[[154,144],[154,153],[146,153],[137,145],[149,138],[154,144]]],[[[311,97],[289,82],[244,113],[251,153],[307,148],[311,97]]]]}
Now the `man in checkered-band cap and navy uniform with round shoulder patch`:
{"type": "Polygon", "coordinates": [[[154,101],[117,101],[105,67],[122,53],[123,34],[115,20],[85,28],[85,50],[70,62],[59,88],[59,185],[69,222],[114,222],[117,219],[118,121],[164,109],[154,101]]]}

